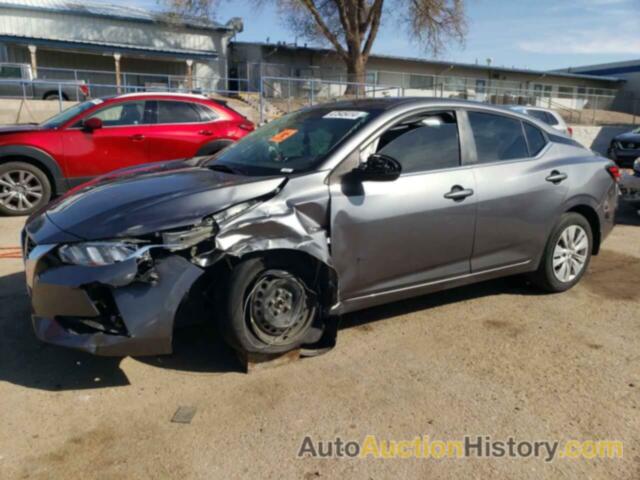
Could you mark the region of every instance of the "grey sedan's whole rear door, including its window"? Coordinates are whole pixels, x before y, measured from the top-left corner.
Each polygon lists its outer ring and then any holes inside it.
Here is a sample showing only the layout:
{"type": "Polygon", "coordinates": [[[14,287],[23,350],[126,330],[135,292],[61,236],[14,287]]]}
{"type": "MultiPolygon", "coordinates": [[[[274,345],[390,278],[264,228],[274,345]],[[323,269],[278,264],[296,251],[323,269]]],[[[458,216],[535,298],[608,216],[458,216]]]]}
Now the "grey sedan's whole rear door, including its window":
{"type": "Polygon", "coordinates": [[[478,160],[471,270],[534,262],[567,195],[568,182],[547,180],[562,168],[546,159],[548,152],[539,157],[548,142],[532,124],[487,112],[470,111],[468,118],[478,160]]]}

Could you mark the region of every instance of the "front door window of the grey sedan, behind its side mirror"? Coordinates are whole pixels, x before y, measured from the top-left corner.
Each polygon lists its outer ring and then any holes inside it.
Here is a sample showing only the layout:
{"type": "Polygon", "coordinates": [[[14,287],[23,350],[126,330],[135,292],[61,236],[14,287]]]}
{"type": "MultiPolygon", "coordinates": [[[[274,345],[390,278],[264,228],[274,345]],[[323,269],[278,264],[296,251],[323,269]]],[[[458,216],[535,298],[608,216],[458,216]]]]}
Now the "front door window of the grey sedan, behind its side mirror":
{"type": "Polygon", "coordinates": [[[402,173],[426,172],[460,165],[460,140],[454,112],[421,115],[387,130],[377,153],[402,165],[402,173]]]}

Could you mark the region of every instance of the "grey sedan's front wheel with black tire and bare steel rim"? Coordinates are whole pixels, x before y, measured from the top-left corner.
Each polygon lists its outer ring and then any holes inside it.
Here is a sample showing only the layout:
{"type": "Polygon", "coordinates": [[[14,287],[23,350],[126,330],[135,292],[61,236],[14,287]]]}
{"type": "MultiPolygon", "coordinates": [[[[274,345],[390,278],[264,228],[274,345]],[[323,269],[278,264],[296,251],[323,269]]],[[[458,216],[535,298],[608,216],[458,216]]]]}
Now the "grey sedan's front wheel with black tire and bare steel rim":
{"type": "Polygon", "coordinates": [[[231,272],[228,288],[219,302],[220,332],[231,347],[242,353],[284,353],[317,341],[322,332],[321,308],[318,289],[313,282],[303,268],[291,261],[251,258],[241,262],[231,272]],[[263,288],[265,284],[269,287],[263,288]],[[297,287],[298,284],[302,288],[297,287]],[[275,328],[267,321],[267,317],[276,317],[276,320],[283,317],[277,317],[277,314],[260,315],[278,308],[273,302],[271,307],[267,305],[276,298],[273,295],[274,289],[279,290],[277,286],[283,286],[282,290],[292,294],[290,301],[294,306],[290,305],[290,311],[300,312],[297,316],[287,316],[286,310],[281,312],[285,320],[295,319],[296,323],[292,326],[275,328]],[[304,291],[304,298],[298,296],[300,291],[304,291]],[[297,304],[296,300],[300,300],[300,303],[297,304]],[[304,305],[304,308],[297,309],[295,305],[304,305]],[[254,312],[257,314],[254,315],[254,312]],[[263,325],[271,330],[263,328],[263,325]]]}

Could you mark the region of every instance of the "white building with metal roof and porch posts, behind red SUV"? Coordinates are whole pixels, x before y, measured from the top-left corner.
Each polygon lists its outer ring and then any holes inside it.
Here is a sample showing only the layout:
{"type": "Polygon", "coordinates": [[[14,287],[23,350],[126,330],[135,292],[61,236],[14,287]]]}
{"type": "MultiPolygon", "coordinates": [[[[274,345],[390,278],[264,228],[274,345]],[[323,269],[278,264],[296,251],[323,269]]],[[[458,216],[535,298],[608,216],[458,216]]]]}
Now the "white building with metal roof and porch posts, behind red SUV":
{"type": "Polygon", "coordinates": [[[177,22],[139,8],[86,1],[0,0],[0,62],[32,64],[40,79],[80,75],[90,83],[177,87],[191,76],[225,78],[227,44],[239,31],[237,18],[226,25],[196,18],[177,22]]]}

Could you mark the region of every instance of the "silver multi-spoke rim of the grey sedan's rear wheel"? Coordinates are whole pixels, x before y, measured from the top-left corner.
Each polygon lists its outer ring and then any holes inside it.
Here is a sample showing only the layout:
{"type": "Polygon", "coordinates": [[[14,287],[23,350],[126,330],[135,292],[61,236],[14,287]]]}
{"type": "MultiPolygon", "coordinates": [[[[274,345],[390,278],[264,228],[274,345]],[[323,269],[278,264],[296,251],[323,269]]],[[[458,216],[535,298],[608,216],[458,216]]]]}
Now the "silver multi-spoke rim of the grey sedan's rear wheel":
{"type": "Polygon", "coordinates": [[[565,228],[553,250],[553,274],[563,282],[576,279],[584,270],[589,254],[589,237],[580,225],[565,228]]]}

